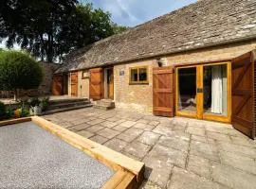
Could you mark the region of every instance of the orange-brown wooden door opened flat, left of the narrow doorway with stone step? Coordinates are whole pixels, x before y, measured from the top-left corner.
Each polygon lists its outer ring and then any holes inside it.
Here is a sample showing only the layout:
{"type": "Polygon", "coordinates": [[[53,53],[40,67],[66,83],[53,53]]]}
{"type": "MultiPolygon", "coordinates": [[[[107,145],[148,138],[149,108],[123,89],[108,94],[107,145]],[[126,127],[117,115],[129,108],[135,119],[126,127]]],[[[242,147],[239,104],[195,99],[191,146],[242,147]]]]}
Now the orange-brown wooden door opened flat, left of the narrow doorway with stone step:
{"type": "Polygon", "coordinates": [[[90,70],[90,98],[100,100],[102,97],[102,69],[90,70]]]}

